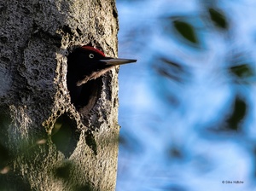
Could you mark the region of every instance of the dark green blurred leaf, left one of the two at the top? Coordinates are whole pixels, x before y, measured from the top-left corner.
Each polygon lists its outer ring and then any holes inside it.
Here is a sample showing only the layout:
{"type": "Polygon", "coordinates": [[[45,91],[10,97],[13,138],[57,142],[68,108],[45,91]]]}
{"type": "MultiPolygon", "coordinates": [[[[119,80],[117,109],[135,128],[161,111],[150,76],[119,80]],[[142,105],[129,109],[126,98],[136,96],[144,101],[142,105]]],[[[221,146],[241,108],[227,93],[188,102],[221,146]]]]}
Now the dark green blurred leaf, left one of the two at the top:
{"type": "Polygon", "coordinates": [[[173,26],[175,27],[177,32],[189,42],[196,44],[199,43],[195,35],[194,27],[191,26],[189,23],[180,20],[174,20],[173,26]]]}

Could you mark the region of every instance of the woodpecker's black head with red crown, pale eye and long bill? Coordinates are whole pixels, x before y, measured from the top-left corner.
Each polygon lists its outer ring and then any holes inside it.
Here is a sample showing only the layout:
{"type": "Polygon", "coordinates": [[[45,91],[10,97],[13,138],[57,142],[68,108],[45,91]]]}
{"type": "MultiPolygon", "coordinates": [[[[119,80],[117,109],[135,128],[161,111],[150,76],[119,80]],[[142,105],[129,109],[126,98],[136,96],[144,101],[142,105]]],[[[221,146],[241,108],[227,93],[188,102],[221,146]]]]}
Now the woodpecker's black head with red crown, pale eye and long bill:
{"type": "Polygon", "coordinates": [[[77,78],[77,86],[85,84],[91,79],[96,79],[113,67],[123,65],[137,60],[119,59],[107,57],[102,51],[90,46],[82,46],[75,49],[68,56],[67,72],[73,73],[77,78]]]}

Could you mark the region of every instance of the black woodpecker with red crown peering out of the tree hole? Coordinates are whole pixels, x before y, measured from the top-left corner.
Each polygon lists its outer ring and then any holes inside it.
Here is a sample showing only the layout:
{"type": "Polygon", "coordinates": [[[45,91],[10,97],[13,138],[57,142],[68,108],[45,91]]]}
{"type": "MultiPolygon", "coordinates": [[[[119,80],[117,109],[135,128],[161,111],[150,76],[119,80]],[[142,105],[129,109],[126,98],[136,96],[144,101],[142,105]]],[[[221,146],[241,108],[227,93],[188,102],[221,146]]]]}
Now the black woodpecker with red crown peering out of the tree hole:
{"type": "Polygon", "coordinates": [[[102,76],[115,66],[136,61],[107,57],[102,51],[91,46],[74,49],[67,56],[67,89],[70,93],[71,102],[75,107],[79,107],[79,101],[83,99],[81,93],[86,88],[85,84],[102,76]]]}

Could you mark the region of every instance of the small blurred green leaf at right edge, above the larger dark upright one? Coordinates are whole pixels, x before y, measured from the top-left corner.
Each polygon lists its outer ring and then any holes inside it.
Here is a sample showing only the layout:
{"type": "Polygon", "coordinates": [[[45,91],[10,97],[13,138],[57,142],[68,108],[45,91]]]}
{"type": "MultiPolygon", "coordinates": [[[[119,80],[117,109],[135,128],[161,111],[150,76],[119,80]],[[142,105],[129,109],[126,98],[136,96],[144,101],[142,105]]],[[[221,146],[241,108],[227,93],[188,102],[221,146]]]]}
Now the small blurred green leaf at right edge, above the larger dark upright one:
{"type": "Polygon", "coordinates": [[[230,72],[236,75],[238,78],[253,77],[253,69],[248,64],[241,64],[235,67],[230,67],[230,72]]]}

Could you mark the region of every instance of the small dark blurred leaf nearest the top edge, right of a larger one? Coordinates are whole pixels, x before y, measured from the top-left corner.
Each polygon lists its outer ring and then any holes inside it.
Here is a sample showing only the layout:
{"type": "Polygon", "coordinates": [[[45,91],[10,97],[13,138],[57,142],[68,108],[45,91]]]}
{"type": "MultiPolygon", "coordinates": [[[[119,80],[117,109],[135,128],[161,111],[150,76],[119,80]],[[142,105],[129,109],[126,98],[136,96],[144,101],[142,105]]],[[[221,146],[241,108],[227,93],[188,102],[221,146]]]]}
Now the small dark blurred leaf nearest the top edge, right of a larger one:
{"type": "Polygon", "coordinates": [[[208,9],[208,11],[215,26],[221,29],[228,29],[228,22],[223,13],[212,8],[208,9]]]}

